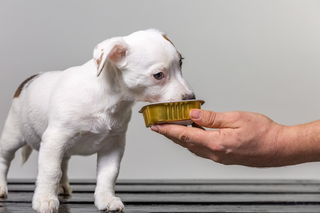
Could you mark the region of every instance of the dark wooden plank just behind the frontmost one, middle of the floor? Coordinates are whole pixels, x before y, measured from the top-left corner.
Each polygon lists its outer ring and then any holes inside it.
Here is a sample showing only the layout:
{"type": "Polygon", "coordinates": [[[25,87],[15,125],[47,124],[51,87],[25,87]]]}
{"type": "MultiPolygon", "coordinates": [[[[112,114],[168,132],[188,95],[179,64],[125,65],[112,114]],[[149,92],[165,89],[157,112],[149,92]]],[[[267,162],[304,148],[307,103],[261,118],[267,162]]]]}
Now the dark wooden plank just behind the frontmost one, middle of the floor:
{"type": "MultiPolygon", "coordinates": [[[[182,204],[182,203],[247,203],[247,204],[271,204],[271,203],[310,203],[320,204],[320,194],[234,194],[234,193],[116,193],[125,203],[130,204],[182,204]]],[[[33,193],[10,192],[8,198],[0,198],[0,202],[31,202],[33,193]]],[[[93,193],[73,193],[72,196],[59,196],[59,200],[65,203],[93,203],[93,193]]]]}

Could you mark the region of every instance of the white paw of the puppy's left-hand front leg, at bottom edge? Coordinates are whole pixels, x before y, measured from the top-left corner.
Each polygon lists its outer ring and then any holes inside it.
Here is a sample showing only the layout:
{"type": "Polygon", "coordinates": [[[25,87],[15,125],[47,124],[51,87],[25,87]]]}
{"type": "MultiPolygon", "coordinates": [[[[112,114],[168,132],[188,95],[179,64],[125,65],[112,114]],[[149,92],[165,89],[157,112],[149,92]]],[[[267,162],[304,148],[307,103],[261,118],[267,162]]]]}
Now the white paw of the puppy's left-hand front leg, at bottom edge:
{"type": "Polygon", "coordinates": [[[37,196],[32,200],[33,210],[39,213],[58,213],[59,204],[56,197],[37,196]]]}

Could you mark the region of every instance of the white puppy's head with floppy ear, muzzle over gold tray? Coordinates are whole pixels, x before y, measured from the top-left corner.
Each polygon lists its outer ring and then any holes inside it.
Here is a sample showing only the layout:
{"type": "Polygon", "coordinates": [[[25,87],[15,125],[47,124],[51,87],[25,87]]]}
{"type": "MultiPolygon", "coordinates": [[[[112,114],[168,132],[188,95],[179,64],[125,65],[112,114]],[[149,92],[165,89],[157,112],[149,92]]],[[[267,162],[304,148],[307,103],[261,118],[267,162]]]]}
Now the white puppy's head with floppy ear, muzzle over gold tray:
{"type": "Polygon", "coordinates": [[[181,55],[157,30],[108,39],[98,44],[94,61],[97,76],[102,71],[117,73],[112,76],[128,99],[150,103],[195,99],[181,74],[181,55]]]}

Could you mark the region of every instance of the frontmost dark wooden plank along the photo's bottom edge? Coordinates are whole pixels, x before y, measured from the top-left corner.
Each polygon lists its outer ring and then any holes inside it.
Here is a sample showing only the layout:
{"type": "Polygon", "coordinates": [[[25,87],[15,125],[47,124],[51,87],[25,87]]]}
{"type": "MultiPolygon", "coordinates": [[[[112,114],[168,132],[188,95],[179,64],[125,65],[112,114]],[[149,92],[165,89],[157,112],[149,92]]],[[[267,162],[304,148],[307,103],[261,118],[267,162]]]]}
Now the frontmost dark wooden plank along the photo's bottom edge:
{"type": "MultiPolygon", "coordinates": [[[[318,205],[126,205],[125,213],[135,212],[319,212],[318,205]]],[[[1,203],[2,213],[35,213],[31,203],[1,203]]],[[[94,204],[60,204],[59,213],[97,213],[94,204]]]]}

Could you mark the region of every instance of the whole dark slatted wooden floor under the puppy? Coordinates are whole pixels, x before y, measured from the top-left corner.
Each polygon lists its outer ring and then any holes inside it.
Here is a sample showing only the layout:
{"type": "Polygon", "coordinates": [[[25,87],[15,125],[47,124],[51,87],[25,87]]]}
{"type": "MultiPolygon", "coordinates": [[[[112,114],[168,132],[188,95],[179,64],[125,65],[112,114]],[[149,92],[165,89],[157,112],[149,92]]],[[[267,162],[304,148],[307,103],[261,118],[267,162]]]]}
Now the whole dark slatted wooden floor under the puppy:
{"type": "MultiPolygon", "coordinates": [[[[60,196],[59,212],[99,212],[94,181],[72,181],[73,195],[60,196]]],[[[32,181],[12,180],[1,213],[35,212],[32,181]]],[[[320,181],[303,180],[120,180],[116,194],[124,212],[320,212],[320,181]]]]}

